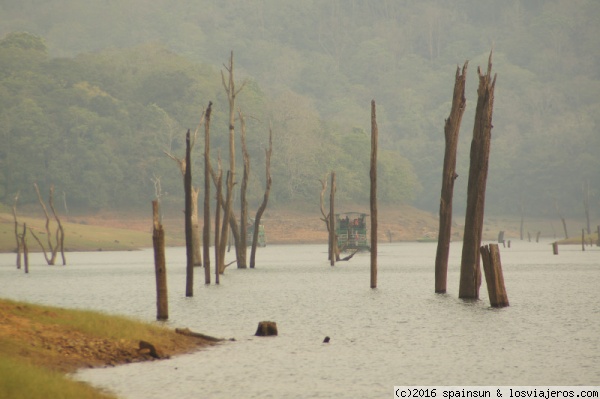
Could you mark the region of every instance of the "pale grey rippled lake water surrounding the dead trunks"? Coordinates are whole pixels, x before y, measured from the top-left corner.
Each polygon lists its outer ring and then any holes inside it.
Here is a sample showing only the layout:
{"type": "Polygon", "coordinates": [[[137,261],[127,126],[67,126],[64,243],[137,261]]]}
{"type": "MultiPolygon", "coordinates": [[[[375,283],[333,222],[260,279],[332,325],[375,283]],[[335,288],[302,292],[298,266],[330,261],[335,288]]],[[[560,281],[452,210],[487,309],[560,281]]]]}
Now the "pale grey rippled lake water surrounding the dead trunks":
{"type": "MultiPolygon", "coordinates": [[[[600,385],[600,250],[517,241],[501,248],[510,307],[457,298],[462,243],[451,246],[448,294],[434,291],[435,243],[379,246],[330,267],[324,245],[268,246],[257,268],[230,266],[219,286],[196,268],[185,297],[185,250],[167,250],[169,325],[236,339],[173,359],[82,370],[122,398],[390,397],[394,385],[600,385]],[[279,336],[254,337],[259,321],[279,336]],[[328,344],[325,336],[331,337],[328,344]]],[[[233,253],[228,257],[233,258],[233,253]]],[[[0,296],[154,321],[153,252],[32,255],[29,275],[0,255],[0,296]],[[38,259],[39,258],[39,259],[38,259]]],[[[214,279],[214,276],[213,276],[214,279]]]]}

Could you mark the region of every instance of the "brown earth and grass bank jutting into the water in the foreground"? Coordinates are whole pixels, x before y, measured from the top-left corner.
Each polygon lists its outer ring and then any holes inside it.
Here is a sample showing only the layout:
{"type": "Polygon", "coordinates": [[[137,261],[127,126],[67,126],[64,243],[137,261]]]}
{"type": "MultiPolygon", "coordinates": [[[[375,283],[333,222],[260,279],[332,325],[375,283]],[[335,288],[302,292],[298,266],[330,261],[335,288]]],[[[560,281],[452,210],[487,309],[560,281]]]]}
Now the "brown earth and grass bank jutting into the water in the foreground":
{"type": "Polygon", "coordinates": [[[161,357],[209,344],[125,317],[0,299],[0,397],[112,398],[67,373],[153,359],[140,340],[161,357]]]}

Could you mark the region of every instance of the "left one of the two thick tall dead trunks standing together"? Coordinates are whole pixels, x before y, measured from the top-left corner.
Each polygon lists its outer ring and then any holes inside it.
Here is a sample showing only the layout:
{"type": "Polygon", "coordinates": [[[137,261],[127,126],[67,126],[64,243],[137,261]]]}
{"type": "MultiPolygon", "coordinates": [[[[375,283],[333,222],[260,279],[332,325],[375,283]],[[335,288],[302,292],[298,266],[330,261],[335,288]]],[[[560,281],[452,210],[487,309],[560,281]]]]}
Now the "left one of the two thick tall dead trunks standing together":
{"type": "Polygon", "coordinates": [[[442,172],[442,194],[440,196],[440,227],[435,256],[435,292],[440,294],[446,292],[448,279],[448,257],[452,236],[452,198],[454,195],[454,181],[458,177],[456,174],[456,150],[460,124],[467,104],[465,98],[467,66],[468,61],[465,62],[462,73],[460,68],[456,67],[452,107],[450,116],[446,119],[444,126],[446,149],[444,152],[444,170],[442,172]]]}

